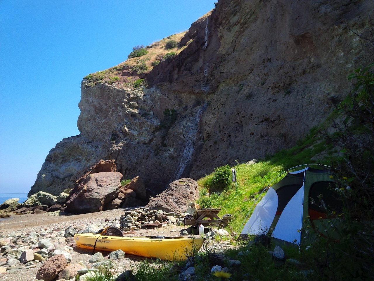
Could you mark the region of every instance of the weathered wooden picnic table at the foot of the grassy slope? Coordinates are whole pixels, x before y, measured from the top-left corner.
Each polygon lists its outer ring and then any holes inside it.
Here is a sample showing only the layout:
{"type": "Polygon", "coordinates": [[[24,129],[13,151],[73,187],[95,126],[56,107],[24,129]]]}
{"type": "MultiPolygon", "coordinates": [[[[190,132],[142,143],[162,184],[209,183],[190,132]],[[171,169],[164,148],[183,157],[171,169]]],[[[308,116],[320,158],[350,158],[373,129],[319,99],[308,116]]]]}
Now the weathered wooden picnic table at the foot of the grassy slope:
{"type": "Polygon", "coordinates": [[[198,224],[202,224],[203,226],[215,226],[218,224],[220,227],[225,227],[232,216],[227,216],[220,218],[218,217],[218,213],[221,209],[197,209],[193,214],[193,218],[186,218],[185,223],[186,225],[196,226],[198,224]],[[208,218],[204,220],[204,218],[208,218]]]}

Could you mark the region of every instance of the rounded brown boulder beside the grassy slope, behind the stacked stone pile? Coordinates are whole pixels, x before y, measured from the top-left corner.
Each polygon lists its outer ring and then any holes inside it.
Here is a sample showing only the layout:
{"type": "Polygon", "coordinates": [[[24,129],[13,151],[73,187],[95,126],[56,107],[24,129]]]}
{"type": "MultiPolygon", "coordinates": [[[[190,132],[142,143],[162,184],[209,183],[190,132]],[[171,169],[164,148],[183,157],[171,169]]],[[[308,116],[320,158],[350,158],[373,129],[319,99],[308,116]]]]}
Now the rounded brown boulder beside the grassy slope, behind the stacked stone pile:
{"type": "Polygon", "coordinates": [[[199,198],[197,182],[190,178],[173,181],[159,197],[152,198],[145,206],[165,212],[186,212],[188,203],[199,198]]]}

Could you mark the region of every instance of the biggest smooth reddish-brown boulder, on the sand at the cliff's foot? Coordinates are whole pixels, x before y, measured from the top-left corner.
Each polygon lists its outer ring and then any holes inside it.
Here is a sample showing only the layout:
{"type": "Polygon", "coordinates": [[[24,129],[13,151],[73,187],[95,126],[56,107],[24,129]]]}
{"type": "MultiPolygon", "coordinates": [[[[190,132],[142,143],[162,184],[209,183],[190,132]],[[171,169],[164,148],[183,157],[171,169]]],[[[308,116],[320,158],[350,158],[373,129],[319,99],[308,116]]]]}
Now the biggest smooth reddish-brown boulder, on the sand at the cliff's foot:
{"type": "Polygon", "coordinates": [[[119,172],[92,173],[82,177],[69,194],[66,211],[78,214],[103,211],[104,206],[118,196],[121,178],[119,172]]]}

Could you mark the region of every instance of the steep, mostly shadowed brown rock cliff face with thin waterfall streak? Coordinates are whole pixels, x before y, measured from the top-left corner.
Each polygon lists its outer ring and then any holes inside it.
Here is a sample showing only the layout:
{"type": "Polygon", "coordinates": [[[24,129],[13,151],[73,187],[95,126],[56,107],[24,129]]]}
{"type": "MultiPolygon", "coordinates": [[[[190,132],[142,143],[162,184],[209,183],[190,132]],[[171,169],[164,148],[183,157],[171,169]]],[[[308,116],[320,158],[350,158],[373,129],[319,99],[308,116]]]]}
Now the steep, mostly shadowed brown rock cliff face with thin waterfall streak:
{"type": "Polygon", "coordinates": [[[181,39],[188,46],[151,70],[147,89],[83,80],[80,135],[51,149],[29,194],[58,194],[100,159],[158,193],[291,147],[349,93],[347,75],[366,63],[350,29],[362,33],[373,11],[370,0],[220,0],[181,39]]]}

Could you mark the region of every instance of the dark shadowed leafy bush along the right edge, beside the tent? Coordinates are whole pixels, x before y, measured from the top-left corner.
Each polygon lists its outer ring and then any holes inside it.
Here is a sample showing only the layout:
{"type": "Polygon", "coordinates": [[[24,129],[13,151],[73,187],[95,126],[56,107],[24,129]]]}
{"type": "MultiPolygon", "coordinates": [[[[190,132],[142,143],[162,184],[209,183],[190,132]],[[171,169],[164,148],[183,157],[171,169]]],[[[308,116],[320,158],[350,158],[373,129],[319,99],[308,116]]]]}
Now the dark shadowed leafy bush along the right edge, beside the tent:
{"type": "MultiPolygon", "coordinates": [[[[325,208],[338,238],[316,233],[310,260],[325,280],[369,280],[374,272],[374,73],[359,67],[352,93],[338,105],[343,117],[325,140],[340,148],[343,157],[332,162],[335,185],[344,203],[341,214],[325,208]],[[338,219],[337,219],[338,218],[338,219]],[[326,266],[328,265],[328,266],[326,266]]],[[[322,204],[323,205],[323,204],[322,204]]],[[[330,221],[329,221],[330,223],[330,221]]]]}

